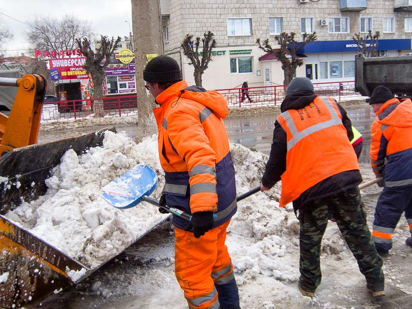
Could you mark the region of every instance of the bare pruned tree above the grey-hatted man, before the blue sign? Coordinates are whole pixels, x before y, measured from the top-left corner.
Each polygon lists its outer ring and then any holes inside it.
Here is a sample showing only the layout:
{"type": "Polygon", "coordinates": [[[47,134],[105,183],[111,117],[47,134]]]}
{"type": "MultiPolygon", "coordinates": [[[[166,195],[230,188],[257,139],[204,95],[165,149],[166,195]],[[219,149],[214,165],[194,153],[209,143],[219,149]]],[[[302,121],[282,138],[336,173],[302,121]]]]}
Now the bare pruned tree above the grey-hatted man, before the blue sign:
{"type": "Polygon", "coordinates": [[[275,36],[275,41],[278,43],[280,48],[273,49],[272,46],[269,44],[269,39],[266,39],[263,42],[263,45],[260,42],[260,39],[256,40],[256,44],[259,46],[260,49],[267,53],[274,54],[280,62],[282,62],[282,69],[284,72],[284,85],[289,85],[290,81],[293,79],[293,75],[295,74],[296,68],[303,64],[303,60],[297,57],[298,51],[305,46],[306,44],[316,41],[317,35],[316,31],[311,34],[303,33],[303,41],[296,45],[295,41],[296,33],[290,32],[282,32],[280,35],[275,36]]]}

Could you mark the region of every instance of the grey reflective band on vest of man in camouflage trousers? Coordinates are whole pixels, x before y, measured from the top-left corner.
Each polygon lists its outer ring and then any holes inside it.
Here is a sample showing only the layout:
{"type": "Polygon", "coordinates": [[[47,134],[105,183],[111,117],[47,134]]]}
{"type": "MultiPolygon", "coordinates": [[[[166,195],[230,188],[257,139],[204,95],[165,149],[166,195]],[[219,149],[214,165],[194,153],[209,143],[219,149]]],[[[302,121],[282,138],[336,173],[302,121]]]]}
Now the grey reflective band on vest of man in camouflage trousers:
{"type": "Polygon", "coordinates": [[[326,96],[320,97],[323,101],[323,103],[325,103],[326,107],[329,110],[329,113],[332,116],[331,120],[327,120],[324,121],[323,123],[318,123],[318,124],[314,124],[311,125],[309,127],[307,127],[306,129],[302,130],[301,132],[298,131],[298,129],[296,128],[292,117],[290,117],[290,114],[286,111],[284,113],[282,113],[282,117],[285,119],[285,122],[290,130],[290,133],[292,134],[292,139],[290,139],[287,142],[287,150],[289,151],[290,149],[292,149],[292,147],[297,144],[301,139],[304,139],[305,137],[311,135],[312,133],[315,133],[317,131],[329,128],[333,125],[339,125],[342,124],[342,121],[340,120],[340,118],[338,117],[338,115],[336,114],[335,109],[333,108],[331,102],[329,102],[329,99],[326,96]]]}

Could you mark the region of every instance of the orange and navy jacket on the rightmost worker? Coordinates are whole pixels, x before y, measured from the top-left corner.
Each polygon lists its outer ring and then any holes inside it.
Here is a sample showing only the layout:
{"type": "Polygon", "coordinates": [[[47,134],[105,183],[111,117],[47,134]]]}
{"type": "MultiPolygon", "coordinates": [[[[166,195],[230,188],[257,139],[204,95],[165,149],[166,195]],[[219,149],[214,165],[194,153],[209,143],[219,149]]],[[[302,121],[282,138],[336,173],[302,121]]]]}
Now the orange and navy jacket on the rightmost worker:
{"type": "Polygon", "coordinates": [[[412,185],[412,101],[386,101],[372,124],[370,163],[385,187],[412,185]]]}

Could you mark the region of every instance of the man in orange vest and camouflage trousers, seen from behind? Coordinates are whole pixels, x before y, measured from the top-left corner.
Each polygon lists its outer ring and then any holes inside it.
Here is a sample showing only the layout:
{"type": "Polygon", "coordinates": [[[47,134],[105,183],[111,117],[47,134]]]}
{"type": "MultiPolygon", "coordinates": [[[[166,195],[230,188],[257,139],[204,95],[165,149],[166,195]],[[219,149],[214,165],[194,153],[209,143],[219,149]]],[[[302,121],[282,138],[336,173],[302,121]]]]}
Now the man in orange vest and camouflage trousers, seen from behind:
{"type": "Polygon", "coordinates": [[[298,288],[315,296],[321,281],[320,248],[330,213],[342,232],[366,288],[384,295],[382,258],[373,244],[358,185],[362,181],[352,149],[351,122],[331,97],[319,97],[307,77],[294,78],[276,119],[261,191],[282,180],[280,207],[293,202],[300,221],[298,288]]]}

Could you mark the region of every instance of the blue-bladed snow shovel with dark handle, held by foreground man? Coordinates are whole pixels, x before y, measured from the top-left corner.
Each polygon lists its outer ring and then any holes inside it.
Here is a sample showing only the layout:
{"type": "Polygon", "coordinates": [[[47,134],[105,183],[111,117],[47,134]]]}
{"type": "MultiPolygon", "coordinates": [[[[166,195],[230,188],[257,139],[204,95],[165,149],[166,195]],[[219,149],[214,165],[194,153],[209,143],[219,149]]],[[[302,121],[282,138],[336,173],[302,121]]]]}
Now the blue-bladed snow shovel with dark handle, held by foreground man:
{"type": "MultiPolygon", "coordinates": [[[[175,216],[190,221],[191,215],[189,213],[167,205],[160,206],[159,201],[148,196],[154,191],[157,184],[158,176],[155,171],[147,165],[139,164],[105,185],[102,188],[102,198],[113,207],[119,209],[130,208],[136,206],[141,201],[147,201],[175,216]]],[[[260,185],[238,196],[236,201],[243,200],[258,191],[260,191],[260,185]]]]}

